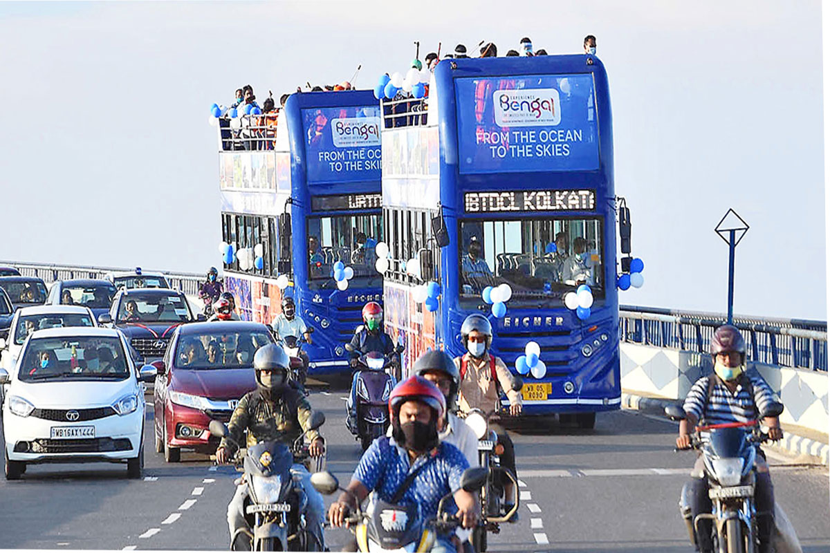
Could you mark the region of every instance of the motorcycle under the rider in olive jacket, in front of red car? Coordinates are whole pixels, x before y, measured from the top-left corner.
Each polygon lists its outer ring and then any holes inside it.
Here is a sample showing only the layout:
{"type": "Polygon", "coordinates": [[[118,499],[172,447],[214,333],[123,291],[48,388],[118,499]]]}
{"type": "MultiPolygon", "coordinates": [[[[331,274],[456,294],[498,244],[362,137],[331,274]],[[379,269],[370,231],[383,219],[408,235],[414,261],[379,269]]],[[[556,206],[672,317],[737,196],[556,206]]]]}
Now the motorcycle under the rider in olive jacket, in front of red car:
{"type": "MultiPolygon", "coordinates": [[[[319,429],[325,415],[313,412],[310,423],[310,429],[319,429]]],[[[214,436],[232,440],[227,425],[220,420],[211,420],[208,429],[214,436]]],[[[291,473],[294,463],[305,464],[312,473],[325,469],[325,457],[311,458],[304,437],[300,435],[291,448],[277,441],[260,442],[248,448],[244,457],[244,444],[234,443],[238,449],[232,461],[243,473],[242,481],[248,488],[245,518],[250,528],[237,529],[231,544],[245,533],[251,540],[251,551],[325,551],[325,544],[305,531],[303,513],[308,498],[291,473]]]]}

